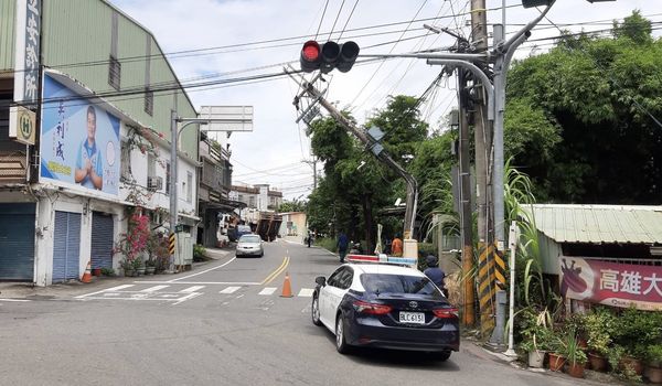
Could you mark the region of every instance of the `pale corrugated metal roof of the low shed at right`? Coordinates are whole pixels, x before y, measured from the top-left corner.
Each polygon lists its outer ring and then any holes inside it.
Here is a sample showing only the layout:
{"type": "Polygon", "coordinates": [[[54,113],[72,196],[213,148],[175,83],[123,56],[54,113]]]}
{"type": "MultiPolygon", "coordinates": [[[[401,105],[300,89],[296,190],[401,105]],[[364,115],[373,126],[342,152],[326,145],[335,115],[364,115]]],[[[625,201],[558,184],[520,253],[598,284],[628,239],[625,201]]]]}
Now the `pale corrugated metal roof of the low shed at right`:
{"type": "Polygon", "coordinates": [[[557,243],[662,244],[662,206],[535,204],[533,213],[557,243]]]}

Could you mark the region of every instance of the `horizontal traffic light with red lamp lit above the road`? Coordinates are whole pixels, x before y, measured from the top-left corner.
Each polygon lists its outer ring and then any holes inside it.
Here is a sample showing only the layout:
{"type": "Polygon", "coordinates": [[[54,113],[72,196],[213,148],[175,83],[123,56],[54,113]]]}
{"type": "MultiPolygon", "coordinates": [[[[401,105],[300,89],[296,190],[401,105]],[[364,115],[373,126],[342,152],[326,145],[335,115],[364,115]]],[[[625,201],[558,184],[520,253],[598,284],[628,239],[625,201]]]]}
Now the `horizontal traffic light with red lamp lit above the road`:
{"type": "Polygon", "coordinates": [[[323,74],[328,74],[333,68],[338,68],[338,71],[346,73],[356,62],[359,51],[359,44],[354,42],[320,44],[309,40],[303,43],[303,49],[301,49],[301,71],[312,73],[320,69],[323,74]]]}

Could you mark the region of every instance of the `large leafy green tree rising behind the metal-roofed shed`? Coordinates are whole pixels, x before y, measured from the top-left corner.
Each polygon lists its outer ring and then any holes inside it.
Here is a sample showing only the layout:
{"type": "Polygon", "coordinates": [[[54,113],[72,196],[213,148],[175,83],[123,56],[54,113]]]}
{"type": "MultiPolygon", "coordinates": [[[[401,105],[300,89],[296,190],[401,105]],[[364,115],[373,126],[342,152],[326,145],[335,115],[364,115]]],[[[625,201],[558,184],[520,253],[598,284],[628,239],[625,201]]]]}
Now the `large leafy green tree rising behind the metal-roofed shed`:
{"type": "Polygon", "coordinates": [[[562,37],[514,64],[505,150],[541,200],[660,203],[662,41],[650,31],[633,12],[613,39],[562,37]]]}

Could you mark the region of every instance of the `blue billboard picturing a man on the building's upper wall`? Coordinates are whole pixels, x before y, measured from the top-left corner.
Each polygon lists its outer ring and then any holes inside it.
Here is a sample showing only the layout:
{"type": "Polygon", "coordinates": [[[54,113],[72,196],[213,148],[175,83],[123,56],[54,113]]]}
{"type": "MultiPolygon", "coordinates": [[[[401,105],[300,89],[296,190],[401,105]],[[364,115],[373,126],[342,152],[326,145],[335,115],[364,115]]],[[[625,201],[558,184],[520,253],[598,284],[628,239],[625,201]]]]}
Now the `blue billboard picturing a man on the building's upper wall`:
{"type": "Polygon", "coordinates": [[[44,75],[40,181],[118,195],[119,119],[44,75]]]}

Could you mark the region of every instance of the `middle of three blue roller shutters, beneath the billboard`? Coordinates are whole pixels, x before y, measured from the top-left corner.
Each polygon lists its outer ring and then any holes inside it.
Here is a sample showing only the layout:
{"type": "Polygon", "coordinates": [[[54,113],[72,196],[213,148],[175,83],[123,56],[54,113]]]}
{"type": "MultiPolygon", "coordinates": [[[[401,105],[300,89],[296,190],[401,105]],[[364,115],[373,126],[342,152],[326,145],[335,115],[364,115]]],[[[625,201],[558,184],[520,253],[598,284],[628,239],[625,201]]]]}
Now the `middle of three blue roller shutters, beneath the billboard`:
{"type": "Polygon", "coordinates": [[[81,214],[55,212],[53,282],[78,279],[81,259],[81,214]]]}

